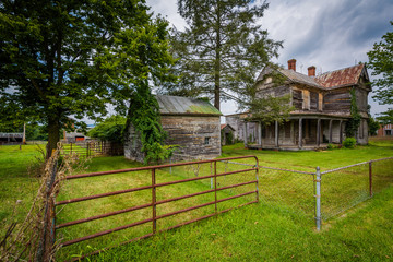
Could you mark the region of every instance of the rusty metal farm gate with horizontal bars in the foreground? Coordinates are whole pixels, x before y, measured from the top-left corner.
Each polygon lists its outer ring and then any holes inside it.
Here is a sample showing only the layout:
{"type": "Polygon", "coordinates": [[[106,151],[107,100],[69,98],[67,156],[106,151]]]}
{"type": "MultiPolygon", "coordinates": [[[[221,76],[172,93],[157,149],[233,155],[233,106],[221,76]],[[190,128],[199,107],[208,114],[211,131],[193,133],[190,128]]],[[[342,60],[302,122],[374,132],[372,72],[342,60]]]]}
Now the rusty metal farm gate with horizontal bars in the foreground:
{"type": "MultiPolygon", "coordinates": [[[[83,242],[83,241],[86,241],[90,239],[95,239],[95,238],[98,238],[98,237],[102,237],[102,236],[105,236],[108,234],[112,234],[112,233],[120,231],[120,230],[123,230],[127,228],[131,228],[131,227],[135,227],[139,225],[151,223],[151,229],[150,229],[148,234],[144,234],[142,236],[134,237],[132,239],[127,240],[126,242],[120,243],[120,245],[123,245],[127,242],[132,242],[132,241],[135,241],[139,239],[151,237],[159,231],[166,231],[166,230],[169,230],[172,228],[177,228],[177,227],[180,227],[180,226],[193,223],[193,222],[198,222],[198,221],[201,221],[201,219],[204,219],[207,217],[215,216],[217,214],[227,212],[235,207],[248,205],[251,203],[257,203],[259,201],[259,189],[258,189],[259,164],[258,164],[258,158],[255,156],[228,157],[228,158],[212,159],[212,160],[188,162],[188,163],[177,163],[177,164],[160,165],[160,166],[136,167],[136,168],[129,168],[129,169],[121,169],[121,170],[90,172],[90,174],[83,174],[83,175],[68,176],[68,177],[66,177],[66,180],[75,180],[75,179],[80,180],[80,179],[85,179],[85,178],[94,178],[94,177],[98,177],[98,176],[108,176],[108,175],[116,175],[116,174],[117,175],[123,174],[123,176],[126,176],[126,175],[128,176],[128,174],[131,175],[134,172],[141,172],[141,171],[150,172],[150,177],[151,177],[151,178],[148,178],[148,179],[151,179],[151,181],[147,184],[144,184],[142,187],[128,188],[128,189],[123,189],[123,190],[96,193],[96,194],[91,194],[91,195],[83,195],[80,198],[64,199],[61,201],[56,200],[52,205],[52,212],[51,212],[51,214],[52,214],[51,219],[53,222],[52,230],[51,230],[52,231],[52,236],[51,236],[52,242],[55,242],[56,235],[59,233],[59,230],[64,230],[70,227],[81,225],[83,223],[103,219],[105,217],[110,217],[110,216],[115,216],[115,215],[119,215],[119,214],[124,214],[124,213],[129,213],[129,212],[148,209],[148,212],[151,212],[151,213],[147,217],[144,217],[143,219],[133,222],[131,224],[117,226],[114,228],[105,229],[105,230],[102,230],[98,233],[94,233],[91,235],[86,235],[86,236],[82,236],[82,237],[78,237],[78,238],[73,238],[73,239],[66,238],[66,239],[60,240],[61,249],[63,249],[64,247],[80,243],[80,242],[83,242]],[[228,167],[228,164],[231,164],[234,166],[234,160],[250,163],[250,159],[251,160],[254,159],[254,164],[252,166],[245,166],[245,164],[239,163],[240,165],[237,165],[237,168],[228,167]],[[209,165],[210,165],[210,170],[211,170],[210,175],[206,176],[205,174],[203,174],[203,170],[201,169],[202,165],[207,165],[207,168],[205,168],[205,171],[209,170],[209,165]],[[218,165],[219,165],[219,167],[218,167],[218,165]],[[156,180],[156,176],[157,176],[158,171],[162,172],[163,170],[166,170],[167,175],[162,176],[162,177],[166,178],[169,176],[169,174],[172,172],[172,168],[174,169],[175,168],[183,168],[182,170],[188,170],[187,168],[190,169],[191,166],[193,168],[192,169],[193,172],[195,174],[194,177],[187,177],[186,179],[184,179],[184,177],[182,177],[183,179],[165,181],[165,182],[157,182],[157,180],[156,180]],[[195,172],[196,169],[198,169],[198,172],[195,172]],[[200,176],[200,174],[199,174],[200,171],[202,172],[202,176],[200,176]],[[246,180],[246,175],[249,178],[248,180],[246,180]],[[233,177],[236,177],[236,179],[231,179],[233,177]],[[157,199],[157,189],[164,190],[164,192],[165,192],[165,190],[169,186],[183,184],[183,183],[189,183],[192,181],[201,182],[201,181],[206,181],[206,180],[207,181],[210,180],[210,181],[206,182],[205,184],[204,183],[202,183],[202,186],[196,184],[198,187],[201,187],[201,189],[202,189],[202,190],[199,190],[198,192],[177,195],[175,198],[170,196],[170,198],[157,199]],[[237,188],[246,188],[245,186],[247,187],[246,192],[238,193],[238,192],[234,191],[237,188]],[[250,188],[251,186],[252,186],[252,189],[250,188]],[[230,190],[230,192],[233,192],[233,193],[224,194],[228,190],[230,190]],[[126,193],[130,193],[130,192],[140,192],[140,191],[145,191],[145,193],[148,194],[148,198],[151,201],[148,201],[147,203],[139,203],[134,206],[130,206],[127,209],[117,210],[117,211],[112,211],[112,212],[108,212],[108,213],[104,213],[104,214],[99,214],[99,215],[94,215],[94,216],[90,216],[90,217],[73,219],[73,221],[63,222],[63,223],[57,222],[56,212],[59,212],[64,205],[68,205],[71,203],[95,200],[95,199],[105,199],[105,198],[109,198],[112,195],[120,195],[120,194],[126,194],[126,193]],[[163,213],[163,214],[157,214],[158,205],[169,203],[169,202],[177,202],[179,200],[190,199],[190,198],[193,198],[196,195],[204,195],[204,196],[207,195],[209,198],[212,198],[212,200],[204,202],[204,203],[198,203],[196,205],[188,206],[186,209],[181,207],[180,210],[176,210],[176,211],[171,211],[171,212],[163,213]],[[249,196],[247,196],[248,199],[247,199],[246,203],[239,204],[238,202],[236,202],[236,205],[234,204],[231,206],[233,202],[230,202],[229,200],[235,200],[235,199],[239,200],[246,195],[249,195],[249,196]],[[252,195],[254,195],[254,196],[252,196],[252,195]],[[252,196],[252,199],[250,199],[250,196],[252,196]],[[225,209],[218,210],[217,204],[226,202],[226,201],[228,201],[227,204],[229,205],[229,207],[225,206],[225,209]],[[214,205],[214,210],[213,210],[213,205],[214,205]],[[182,223],[169,226],[169,227],[158,228],[158,226],[157,226],[157,221],[159,221],[159,219],[168,218],[168,217],[170,217],[169,219],[172,219],[172,216],[175,216],[177,214],[194,211],[194,210],[198,210],[198,209],[201,209],[204,206],[212,206],[211,207],[212,212],[209,214],[204,214],[200,217],[188,219],[186,222],[182,222],[182,223]]],[[[191,188],[193,188],[193,187],[191,187],[191,188]]],[[[189,202],[191,203],[191,200],[189,202]]],[[[95,250],[94,252],[91,252],[88,254],[82,254],[81,257],[79,257],[74,260],[85,258],[86,255],[99,253],[103,250],[107,249],[108,246],[106,246],[104,249],[95,250]]],[[[119,245],[116,245],[116,246],[119,246],[119,245]]]]}

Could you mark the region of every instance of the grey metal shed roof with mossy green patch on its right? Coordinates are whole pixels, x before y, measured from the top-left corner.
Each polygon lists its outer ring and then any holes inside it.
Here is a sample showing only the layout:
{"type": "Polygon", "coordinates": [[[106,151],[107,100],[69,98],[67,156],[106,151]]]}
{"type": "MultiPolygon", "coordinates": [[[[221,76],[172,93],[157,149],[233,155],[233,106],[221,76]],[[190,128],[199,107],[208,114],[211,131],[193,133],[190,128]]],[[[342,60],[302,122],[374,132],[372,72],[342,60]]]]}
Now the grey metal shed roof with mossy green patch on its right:
{"type": "Polygon", "coordinates": [[[222,116],[223,114],[209,102],[182,97],[156,95],[162,115],[204,115],[222,116]]]}

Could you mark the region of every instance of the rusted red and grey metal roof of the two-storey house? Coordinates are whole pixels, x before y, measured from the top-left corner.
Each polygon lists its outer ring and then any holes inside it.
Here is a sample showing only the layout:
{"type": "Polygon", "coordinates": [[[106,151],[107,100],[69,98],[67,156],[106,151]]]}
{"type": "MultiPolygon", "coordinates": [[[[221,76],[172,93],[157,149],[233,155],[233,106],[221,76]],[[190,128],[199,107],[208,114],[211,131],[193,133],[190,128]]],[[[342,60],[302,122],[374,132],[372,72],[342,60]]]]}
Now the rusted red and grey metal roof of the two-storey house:
{"type": "MultiPolygon", "coordinates": [[[[359,78],[362,74],[369,81],[369,76],[367,74],[364,63],[340,70],[334,70],[320,74],[318,76],[308,76],[306,74],[301,74],[288,69],[278,69],[278,71],[286,78],[288,78],[288,80],[290,81],[323,90],[355,85],[359,82],[359,78]]],[[[269,73],[269,70],[263,70],[258,80],[262,80],[264,73],[269,73]]]]}

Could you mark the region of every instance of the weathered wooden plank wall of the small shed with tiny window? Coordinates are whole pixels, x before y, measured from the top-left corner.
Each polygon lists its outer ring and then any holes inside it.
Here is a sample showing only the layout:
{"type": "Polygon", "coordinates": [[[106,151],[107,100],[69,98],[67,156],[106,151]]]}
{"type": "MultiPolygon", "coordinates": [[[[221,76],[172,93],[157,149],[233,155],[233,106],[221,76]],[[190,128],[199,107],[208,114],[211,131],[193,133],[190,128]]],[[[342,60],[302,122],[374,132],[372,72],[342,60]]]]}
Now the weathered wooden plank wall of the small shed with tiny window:
{"type": "Polygon", "coordinates": [[[172,160],[207,159],[221,155],[219,117],[162,116],[162,124],[168,132],[165,144],[178,145],[172,160]]]}

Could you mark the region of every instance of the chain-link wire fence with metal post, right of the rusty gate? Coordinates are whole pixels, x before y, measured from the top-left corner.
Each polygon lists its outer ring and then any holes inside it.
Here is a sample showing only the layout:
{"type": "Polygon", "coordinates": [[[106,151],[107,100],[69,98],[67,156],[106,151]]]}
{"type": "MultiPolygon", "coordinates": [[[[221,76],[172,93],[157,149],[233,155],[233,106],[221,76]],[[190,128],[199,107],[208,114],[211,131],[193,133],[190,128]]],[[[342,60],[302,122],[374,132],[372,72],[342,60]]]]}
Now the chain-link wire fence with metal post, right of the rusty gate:
{"type": "Polygon", "coordinates": [[[290,207],[321,223],[370,199],[393,184],[393,157],[364,162],[323,172],[260,166],[263,203],[290,207]]]}

